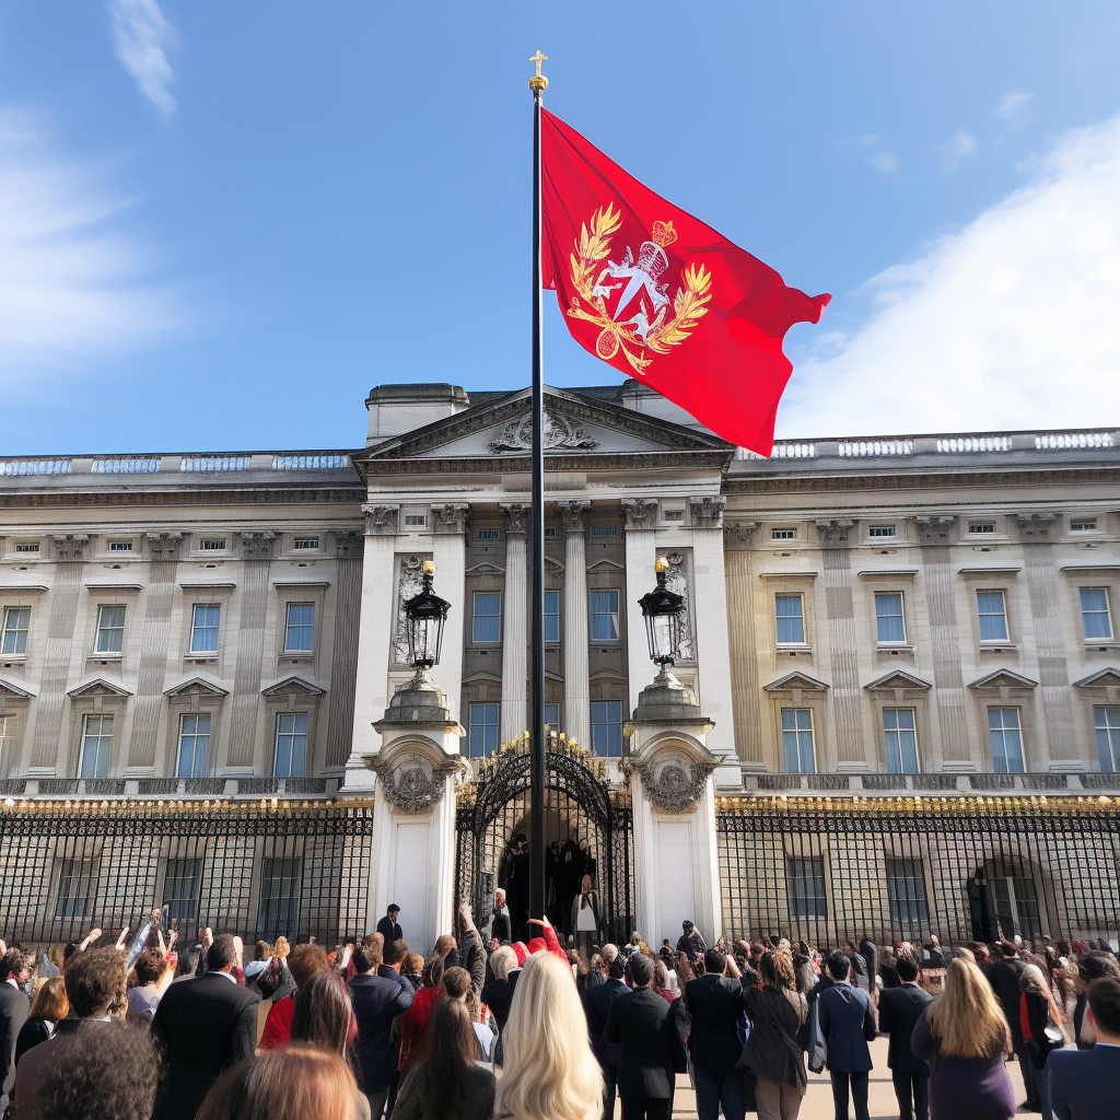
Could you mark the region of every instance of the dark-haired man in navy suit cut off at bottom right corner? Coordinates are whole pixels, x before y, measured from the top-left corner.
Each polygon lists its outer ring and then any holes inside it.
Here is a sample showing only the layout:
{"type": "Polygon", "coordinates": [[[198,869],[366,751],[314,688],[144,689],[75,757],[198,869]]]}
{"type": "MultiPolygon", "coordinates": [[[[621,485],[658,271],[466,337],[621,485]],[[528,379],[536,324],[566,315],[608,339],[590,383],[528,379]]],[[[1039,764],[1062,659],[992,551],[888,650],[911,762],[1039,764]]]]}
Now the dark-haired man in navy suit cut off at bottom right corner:
{"type": "Polygon", "coordinates": [[[1095,1120],[1117,1114],[1120,980],[1110,976],[1093,980],[1085,1015],[1096,1033],[1096,1045],[1088,1051],[1053,1051],[1046,1060],[1051,1108],[1056,1120],[1095,1120]]]}

